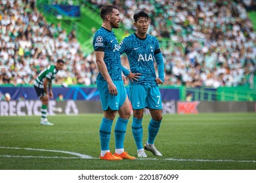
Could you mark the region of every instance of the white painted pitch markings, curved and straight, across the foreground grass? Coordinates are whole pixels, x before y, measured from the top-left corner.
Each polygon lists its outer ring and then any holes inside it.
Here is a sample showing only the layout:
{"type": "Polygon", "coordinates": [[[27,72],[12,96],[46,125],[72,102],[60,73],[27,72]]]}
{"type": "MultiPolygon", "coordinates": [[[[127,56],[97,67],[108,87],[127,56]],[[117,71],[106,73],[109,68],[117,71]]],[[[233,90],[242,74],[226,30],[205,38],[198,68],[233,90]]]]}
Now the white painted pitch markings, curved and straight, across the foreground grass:
{"type": "MultiPolygon", "coordinates": [[[[33,149],[33,148],[12,148],[12,147],[1,147],[0,148],[8,148],[8,149],[23,149],[23,150],[38,150],[38,151],[46,151],[46,152],[62,152],[64,154],[71,154],[78,157],[62,157],[62,156],[11,156],[11,155],[0,155],[0,157],[4,158],[53,158],[53,159],[98,159],[93,158],[91,156],[85,154],[79,154],[76,152],[68,152],[62,150],[44,150],[44,149],[33,149]]],[[[236,162],[236,163],[256,163],[256,160],[233,160],[233,159],[176,159],[176,158],[137,158],[139,160],[157,160],[157,161],[198,161],[198,162],[236,162]]]]}

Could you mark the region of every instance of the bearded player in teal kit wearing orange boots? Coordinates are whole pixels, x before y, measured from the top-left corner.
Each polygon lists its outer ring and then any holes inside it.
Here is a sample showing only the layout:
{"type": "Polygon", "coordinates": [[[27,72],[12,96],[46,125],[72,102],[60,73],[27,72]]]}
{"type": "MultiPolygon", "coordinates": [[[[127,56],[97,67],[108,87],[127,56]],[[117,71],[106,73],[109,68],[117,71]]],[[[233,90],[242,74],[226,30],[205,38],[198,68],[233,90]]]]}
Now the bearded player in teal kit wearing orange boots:
{"type": "Polygon", "coordinates": [[[96,63],[100,73],[97,76],[96,84],[100,93],[100,101],[104,117],[100,124],[100,159],[121,160],[135,159],[124,151],[123,141],[129,120],[130,107],[126,90],[123,86],[122,70],[125,75],[131,75],[129,71],[121,66],[119,44],[112,28],[119,27],[119,11],[112,5],[106,5],[100,10],[102,26],[95,33],[93,38],[93,48],[95,50],[96,63]],[[110,135],[112,124],[119,113],[115,125],[116,151],[110,152],[110,135]]]}

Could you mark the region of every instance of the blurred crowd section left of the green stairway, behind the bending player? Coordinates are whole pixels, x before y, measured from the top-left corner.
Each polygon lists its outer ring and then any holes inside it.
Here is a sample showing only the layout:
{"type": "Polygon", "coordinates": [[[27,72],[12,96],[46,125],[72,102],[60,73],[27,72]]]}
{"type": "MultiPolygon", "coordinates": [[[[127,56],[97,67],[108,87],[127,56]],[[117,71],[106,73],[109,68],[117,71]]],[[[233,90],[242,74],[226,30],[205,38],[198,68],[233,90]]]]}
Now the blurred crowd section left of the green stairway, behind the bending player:
{"type": "Polygon", "coordinates": [[[75,31],[46,22],[34,1],[0,1],[0,84],[33,84],[38,73],[64,59],[54,84],[95,84],[98,69],[87,60],[75,31]]]}

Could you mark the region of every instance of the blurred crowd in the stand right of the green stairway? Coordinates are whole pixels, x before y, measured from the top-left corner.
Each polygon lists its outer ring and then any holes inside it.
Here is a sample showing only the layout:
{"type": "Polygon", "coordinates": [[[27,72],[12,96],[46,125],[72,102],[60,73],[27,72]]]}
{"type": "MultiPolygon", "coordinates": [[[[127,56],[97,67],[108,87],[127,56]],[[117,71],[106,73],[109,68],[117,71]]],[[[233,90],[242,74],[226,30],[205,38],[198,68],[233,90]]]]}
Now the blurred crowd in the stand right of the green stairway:
{"type": "Polygon", "coordinates": [[[240,1],[108,2],[121,7],[127,29],[133,29],[133,13],[145,10],[148,33],[181,43],[162,50],[166,85],[238,86],[255,75],[256,34],[240,1]]]}

